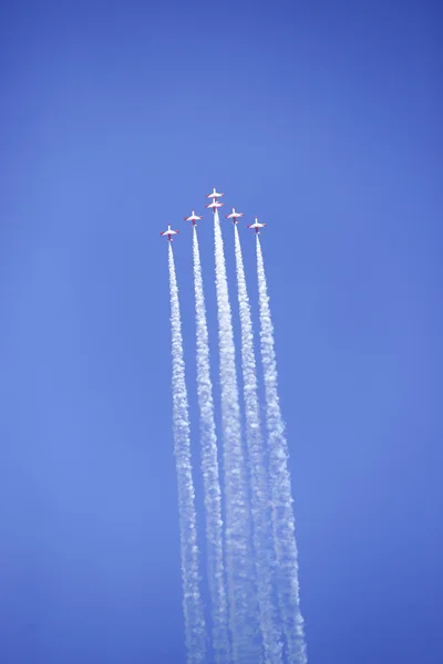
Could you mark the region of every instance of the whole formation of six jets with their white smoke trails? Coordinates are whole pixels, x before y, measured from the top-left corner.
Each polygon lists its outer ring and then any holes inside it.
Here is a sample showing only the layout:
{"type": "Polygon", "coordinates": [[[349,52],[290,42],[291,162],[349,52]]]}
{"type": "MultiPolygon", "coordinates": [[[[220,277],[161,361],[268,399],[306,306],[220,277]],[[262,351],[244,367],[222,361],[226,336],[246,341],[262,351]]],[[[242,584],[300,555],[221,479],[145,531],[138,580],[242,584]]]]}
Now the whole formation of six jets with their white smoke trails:
{"type": "MultiPolygon", "coordinates": [[[[233,224],[234,235],[234,247],[229,241],[229,250],[234,248],[239,315],[233,317],[229,290],[235,284],[234,280],[229,281],[226,269],[219,218],[223,197],[215,187],[206,197],[206,208],[214,212],[215,277],[215,292],[212,288],[207,299],[204,289],[207,277],[202,268],[197,228],[194,228],[203,216],[192,210],[184,218],[193,226],[193,373],[196,380],[189,393],[179,277],[177,281],[171,245],[178,230],[169,225],[161,234],[168,241],[173,439],[187,664],[307,664],[288,440],[279,406],[274,324],[259,236],[266,225],[257,217],[254,224],[248,224],[256,236],[254,291],[258,291],[255,309],[258,320],[255,322],[239,234],[239,222],[245,215],[235,208],[225,216],[229,225],[233,224]],[[214,307],[217,317],[216,355],[215,345],[209,343],[215,323],[208,323],[206,302],[214,307]],[[235,338],[236,324],[239,331],[235,338]],[[240,372],[241,381],[238,380],[240,372]],[[188,394],[199,412],[198,433],[193,435],[188,394]],[[194,465],[193,469],[194,436],[199,443],[202,501],[195,499],[194,473],[198,473],[198,466],[194,465]],[[198,511],[203,506],[202,536],[198,535],[198,511]],[[200,574],[205,566],[199,551],[202,537],[206,575],[200,574]],[[209,599],[207,609],[205,595],[209,599]]],[[[186,290],[183,298],[188,298],[186,290]]]]}

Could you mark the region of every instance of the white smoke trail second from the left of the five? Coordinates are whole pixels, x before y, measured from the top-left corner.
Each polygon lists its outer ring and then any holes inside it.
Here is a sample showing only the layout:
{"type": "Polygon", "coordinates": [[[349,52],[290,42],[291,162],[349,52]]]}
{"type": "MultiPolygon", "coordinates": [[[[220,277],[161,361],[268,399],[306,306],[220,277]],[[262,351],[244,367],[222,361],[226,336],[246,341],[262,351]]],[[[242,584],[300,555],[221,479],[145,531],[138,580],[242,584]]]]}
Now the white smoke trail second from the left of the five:
{"type": "Polygon", "coordinates": [[[217,460],[208,330],[197,229],[193,229],[195,319],[197,331],[197,394],[200,412],[202,471],[205,491],[208,580],[216,664],[229,664],[229,627],[223,560],[222,491],[217,460]]]}

